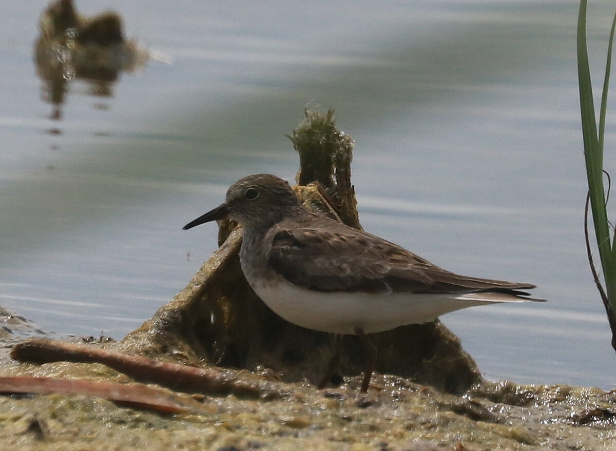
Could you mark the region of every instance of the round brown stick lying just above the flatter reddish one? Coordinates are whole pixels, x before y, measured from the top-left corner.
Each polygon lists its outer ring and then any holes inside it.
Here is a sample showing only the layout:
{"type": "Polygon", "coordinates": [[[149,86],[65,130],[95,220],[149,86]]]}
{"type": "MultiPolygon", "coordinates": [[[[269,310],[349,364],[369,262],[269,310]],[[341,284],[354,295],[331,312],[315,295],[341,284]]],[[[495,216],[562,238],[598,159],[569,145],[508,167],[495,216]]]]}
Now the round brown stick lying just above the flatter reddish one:
{"type": "Polygon", "coordinates": [[[232,393],[250,397],[282,396],[282,392],[271,383],[240,380],[230,371],[218,368],[188,367],[51,339],[30,338],[15,345],[10,356],[15,360],[37,363],[68,361],[105,364],[135,380],[161,384],[182,392],[232,393]]]}

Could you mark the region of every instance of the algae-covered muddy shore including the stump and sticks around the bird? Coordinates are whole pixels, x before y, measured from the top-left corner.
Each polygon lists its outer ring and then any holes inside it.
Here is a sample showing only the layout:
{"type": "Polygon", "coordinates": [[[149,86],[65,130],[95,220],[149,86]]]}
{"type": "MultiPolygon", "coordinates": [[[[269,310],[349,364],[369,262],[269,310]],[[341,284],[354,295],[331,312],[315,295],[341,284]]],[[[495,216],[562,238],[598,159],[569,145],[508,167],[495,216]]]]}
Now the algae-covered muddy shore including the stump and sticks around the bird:
{"type": "MultiPolygon", "coordinates": [[[[357,221],[352,140],[340,139],[333,115],[307,113],[293,137],[302,161],[309,151],[325,158],[314,165],[321,168],[314,174],[319,183],[295,187],[304,206],[357,221]],[[330,150],[314,152],[315,142],[330,150]]],[[[331,356],[331,339],[284,322],[262,304],[238,264],[241,230],[220,225],[219,250],[185,290],[120,343],[36,338],[12,347],[16,360],[3,355],[2,381],[52,381],[59,388],[3,386],[0,441],[23,450],[616,447],[615,392],[485,381],[438,321],[375,335],[379,374],[368,394],[358,393],[362,354],[352,337],[345,341],[339,387],[316,389],[312,381],[331,356]],[[36,346],[43,351],[25,352],[36,346]],[[205,372],[207,383],[185,383],[178,364],[205,372]],[[39,394],[24,397],[28,391],[39,394]],[[137,396],[144,391],[158,401],[137,396]],[[169,400],[176,407],[164,407],[169,400]]],[[[27,328],[23,321],[14,327],[22,335],[27,328]]],[[[8,349],[18,337],[10,326],[5,331],[8,349]]]]}

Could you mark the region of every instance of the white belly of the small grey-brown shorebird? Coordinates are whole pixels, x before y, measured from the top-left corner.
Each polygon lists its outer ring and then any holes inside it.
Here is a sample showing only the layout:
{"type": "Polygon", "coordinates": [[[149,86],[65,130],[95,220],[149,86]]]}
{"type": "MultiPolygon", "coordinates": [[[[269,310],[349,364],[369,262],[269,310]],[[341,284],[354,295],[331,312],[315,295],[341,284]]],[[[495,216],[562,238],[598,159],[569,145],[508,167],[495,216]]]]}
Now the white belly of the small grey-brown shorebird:
{"type": "Polygon", "coordinates": [[[409,293],[323,293],[286,280],[253,284],[253,290],[278,316],[295,325],[344,335],[376,333],[405,324],[433,321],[442,314],[493,301],[456,295],[409,293]]]}

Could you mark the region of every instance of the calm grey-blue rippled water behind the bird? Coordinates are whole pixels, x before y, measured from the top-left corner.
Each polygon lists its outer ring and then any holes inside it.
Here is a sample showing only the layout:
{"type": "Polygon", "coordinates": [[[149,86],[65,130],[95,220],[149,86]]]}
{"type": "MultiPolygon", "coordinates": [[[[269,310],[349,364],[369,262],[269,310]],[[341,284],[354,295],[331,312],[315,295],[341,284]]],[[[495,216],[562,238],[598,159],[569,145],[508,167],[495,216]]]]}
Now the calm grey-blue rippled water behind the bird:
{"type": "MultiPolygon", "coordinates": [[[[293,179],[285,134],[331,106],[365,229],[549,299],[443,318],[488,378],[614,386],[583,242],[577,2],[81,1],[156,58],[108,97],[71,84],[60,120],[32,60],[46,2],[0,4],[2,306],[121,338],[214,250],[215,225],[182,225],[241,176],[293,179]]],[[[590,12],[596,64],[611,8],[590,12]]]]}

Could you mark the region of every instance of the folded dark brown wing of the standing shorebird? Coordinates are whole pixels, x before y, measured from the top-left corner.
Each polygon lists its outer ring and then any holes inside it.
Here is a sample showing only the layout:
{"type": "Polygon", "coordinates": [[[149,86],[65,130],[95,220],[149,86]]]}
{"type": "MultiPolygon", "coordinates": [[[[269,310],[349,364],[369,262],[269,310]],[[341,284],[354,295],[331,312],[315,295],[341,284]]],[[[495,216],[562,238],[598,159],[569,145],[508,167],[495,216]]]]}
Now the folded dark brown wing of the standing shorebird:
{"type": "Polygon", "coordinates": [[[534,287],[453,274],[394,243],[339,225],[326,221],[318,227],[281,227],[272,238],[270,266],[289,282],[318,291],[502,291],[524,296],[516,290],[534,287]]]}

